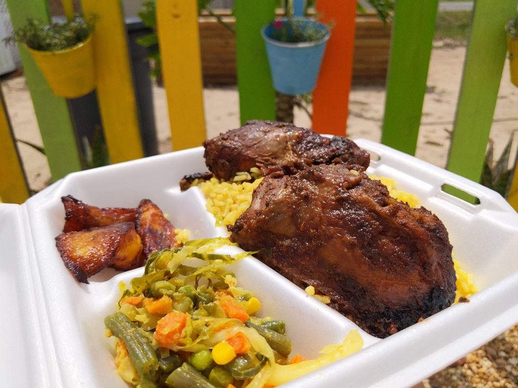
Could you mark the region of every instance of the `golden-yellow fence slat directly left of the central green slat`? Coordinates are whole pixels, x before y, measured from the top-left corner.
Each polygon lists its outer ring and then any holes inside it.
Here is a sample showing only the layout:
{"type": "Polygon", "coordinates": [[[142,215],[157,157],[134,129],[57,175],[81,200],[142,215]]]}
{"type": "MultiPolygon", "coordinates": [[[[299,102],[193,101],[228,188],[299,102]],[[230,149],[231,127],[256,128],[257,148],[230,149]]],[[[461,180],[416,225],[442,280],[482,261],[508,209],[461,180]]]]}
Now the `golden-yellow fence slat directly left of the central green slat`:
{"type": "Polygon", "coordinates": [[[157,0],[156,17],[173,150],[206,138],[196,0],[157,0]]]}

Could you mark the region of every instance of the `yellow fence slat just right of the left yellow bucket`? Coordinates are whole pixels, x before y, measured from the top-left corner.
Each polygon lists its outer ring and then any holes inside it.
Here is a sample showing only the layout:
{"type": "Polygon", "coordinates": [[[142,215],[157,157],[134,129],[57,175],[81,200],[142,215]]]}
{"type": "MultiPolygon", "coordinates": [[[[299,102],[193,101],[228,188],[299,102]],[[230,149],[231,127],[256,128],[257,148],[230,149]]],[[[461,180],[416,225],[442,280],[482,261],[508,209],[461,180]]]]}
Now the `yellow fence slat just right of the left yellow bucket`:
{"type": "Polygon", "coordinates": [[[143,157],[130,56],[120,0],[82,0],[85,16],[95,14],[97,99],[112,163],[143,157]]]}

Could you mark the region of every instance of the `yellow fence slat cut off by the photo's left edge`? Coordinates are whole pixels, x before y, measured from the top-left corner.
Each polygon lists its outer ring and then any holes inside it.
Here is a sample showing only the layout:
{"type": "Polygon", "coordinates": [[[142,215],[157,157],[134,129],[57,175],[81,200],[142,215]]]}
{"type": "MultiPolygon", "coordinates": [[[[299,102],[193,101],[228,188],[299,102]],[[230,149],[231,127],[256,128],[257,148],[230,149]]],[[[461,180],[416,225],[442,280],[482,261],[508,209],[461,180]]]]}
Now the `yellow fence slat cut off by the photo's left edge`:
{"type": "Polygon", "coordinates": [[[29,197],[29,191],[1,91],[0,139],[0,199],[3,202],[22,203],[29,197]]]}

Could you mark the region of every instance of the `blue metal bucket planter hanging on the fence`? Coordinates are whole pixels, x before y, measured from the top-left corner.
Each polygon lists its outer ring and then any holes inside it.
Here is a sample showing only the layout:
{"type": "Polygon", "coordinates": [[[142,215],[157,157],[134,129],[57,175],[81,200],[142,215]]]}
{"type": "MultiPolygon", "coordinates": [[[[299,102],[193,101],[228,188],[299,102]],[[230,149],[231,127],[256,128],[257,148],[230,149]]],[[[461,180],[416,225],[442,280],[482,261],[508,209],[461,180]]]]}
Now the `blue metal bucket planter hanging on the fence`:
{"type": "Polygon", "coordinates": [[[312,92],[330,36],[329,29],[310,19],[285,19],[265,25],[261,35],[266,44],[276,91],[292,96],[312,92]],[[290,25],[294,22],[297,23],[296,32],[290,25]],[[316,34],[320,38],[314,41],[286,41],[294,40],[294,34],[300,35],[304,32],[316,34]]]}

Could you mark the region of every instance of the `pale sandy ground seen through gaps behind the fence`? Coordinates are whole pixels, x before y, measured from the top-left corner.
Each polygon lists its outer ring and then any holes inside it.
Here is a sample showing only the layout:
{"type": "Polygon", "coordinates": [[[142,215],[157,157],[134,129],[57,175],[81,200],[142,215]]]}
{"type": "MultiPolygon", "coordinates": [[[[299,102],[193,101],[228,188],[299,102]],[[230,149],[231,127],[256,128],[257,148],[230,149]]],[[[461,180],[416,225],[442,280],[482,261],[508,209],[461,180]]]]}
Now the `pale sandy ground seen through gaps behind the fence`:
{"type": "MultiPolygon", "coordinates": [[[[448,159],[464,56],[464,47],[438,47],[433,50],[431,56],[428,91],[423,106],[416,156],[439,167],[444,167],[448,159]]],[[[518,88],[509,81],[508,71],[508,61],[506,61],[491,129],[496,155],[503,150],[511,133],[518,129],[518,88]]],[[[23,77],[6,79],[2,82],[2,89],[16,138],[41,145],[34,108],[25,79],[23,77]]],[[[159,150],[164,153],[171,150],[164,89],[154,87],[153,98],[159,150]]],[[[239,101],[235,87],[205,88],[204,102],[208,138],[239,126],[239,101]]],[[[380,141],[384,103],[384,87],[353,87],[350,95],[347,136],[352,139],[365,138],[380,141]]],[[[297,110],[295,124],[311,127],[311,120],[305,112],[297,110]]],[[[515,139],[514,143],[513,150],[516,149],[518,139],[515,139]]],[[[20,143],[19,148],[31,188],[33,190],[44,188],[50,181],[46,158],[25,144],[20,143]]]]}

